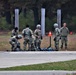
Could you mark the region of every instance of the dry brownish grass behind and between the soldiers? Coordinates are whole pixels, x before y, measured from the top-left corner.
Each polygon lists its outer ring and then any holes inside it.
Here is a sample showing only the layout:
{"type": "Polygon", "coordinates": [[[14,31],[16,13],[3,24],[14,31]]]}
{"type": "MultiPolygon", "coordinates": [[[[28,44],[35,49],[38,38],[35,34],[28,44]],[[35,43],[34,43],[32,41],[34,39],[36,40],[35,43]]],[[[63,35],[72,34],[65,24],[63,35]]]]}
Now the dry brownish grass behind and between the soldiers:
{"type": "MultiPolygon", "coordinates": [[[[10,32],[3,32],[3,33],[0,32],[0,51],[11,50],[11,46],[9,44],[10,36],[11,36],[10,32]]],[[[53,38],[54,38],[54,36],[52,36],[51,44],[52,44],[52,47],[54,48],[53,38]]],[[[41,47],[42,48],[48,47],[50,44],[49,40],[50,40],[50,38],[48,36],[45,36],[42,40],[41,47]]],[[[23,39],[21,39],[19,41],[21,43],[21,48],[23,49],[23,39]]],[[[65,50],[65,49],[63,49],[63,50],[65,50]]],[[[63,50],[61,50],[61,51],[63,51],[63,50]]],[[[76,50],[76,34],[68,36],[68,50],[69,51],[76,50]]]]}

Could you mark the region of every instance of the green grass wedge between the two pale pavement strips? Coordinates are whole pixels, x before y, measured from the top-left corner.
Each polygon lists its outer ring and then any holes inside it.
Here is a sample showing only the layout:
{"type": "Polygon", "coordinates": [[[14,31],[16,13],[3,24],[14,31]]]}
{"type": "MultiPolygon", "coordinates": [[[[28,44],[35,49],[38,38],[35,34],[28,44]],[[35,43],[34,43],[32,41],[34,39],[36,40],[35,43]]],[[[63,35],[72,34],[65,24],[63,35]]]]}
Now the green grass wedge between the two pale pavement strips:
{"type": "Polygon", "coordinates": [[[10,68],[2,68],[0,71],[24,71],[24,70],[76,70],[76,60],[65,61],[65,62],[53,62],[53,63],[45,63],[45,64],[36,64],[36,65],[28,65],[28,66],[17,66],[10,68]]]}

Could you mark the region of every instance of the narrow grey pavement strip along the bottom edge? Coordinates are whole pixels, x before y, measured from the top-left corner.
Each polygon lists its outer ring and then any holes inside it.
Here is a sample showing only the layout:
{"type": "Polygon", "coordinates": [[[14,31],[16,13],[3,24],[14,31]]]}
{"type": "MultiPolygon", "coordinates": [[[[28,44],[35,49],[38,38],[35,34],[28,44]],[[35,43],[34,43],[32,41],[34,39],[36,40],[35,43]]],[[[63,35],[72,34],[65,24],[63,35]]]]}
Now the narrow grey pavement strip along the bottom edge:
{"type": "Polygon", "coordinates": [[[0,75],[76,75],[76,71],[0,71],[0,75]]]}

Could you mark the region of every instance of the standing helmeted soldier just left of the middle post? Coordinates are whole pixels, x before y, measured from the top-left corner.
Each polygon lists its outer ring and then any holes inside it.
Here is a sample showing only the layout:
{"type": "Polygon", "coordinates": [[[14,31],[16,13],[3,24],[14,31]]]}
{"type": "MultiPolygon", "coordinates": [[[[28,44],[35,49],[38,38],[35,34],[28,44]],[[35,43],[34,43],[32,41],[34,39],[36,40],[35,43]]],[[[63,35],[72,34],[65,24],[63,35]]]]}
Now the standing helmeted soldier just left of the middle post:
{"type": "Polygon", "coordinates": [[[36,30],[34,31],[34,35],[35,35],[35,47],[37,50],[41,50],[40,45],[41,45],[41,39],[42,39],[42,35],[41,35],[41,25],[37,25],[36,26],[36,30]]]}

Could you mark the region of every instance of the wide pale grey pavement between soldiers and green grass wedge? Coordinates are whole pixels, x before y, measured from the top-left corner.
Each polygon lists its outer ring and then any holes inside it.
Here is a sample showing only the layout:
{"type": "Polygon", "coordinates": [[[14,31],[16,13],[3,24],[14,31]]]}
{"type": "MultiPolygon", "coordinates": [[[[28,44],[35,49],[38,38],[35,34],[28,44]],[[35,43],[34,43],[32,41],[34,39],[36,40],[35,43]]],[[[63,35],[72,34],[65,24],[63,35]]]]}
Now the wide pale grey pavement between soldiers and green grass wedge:
{"type": "Polygon", "coordinates": [[[76,51],[0,52],[0,68],[76,60],[76,51]]]}

